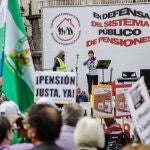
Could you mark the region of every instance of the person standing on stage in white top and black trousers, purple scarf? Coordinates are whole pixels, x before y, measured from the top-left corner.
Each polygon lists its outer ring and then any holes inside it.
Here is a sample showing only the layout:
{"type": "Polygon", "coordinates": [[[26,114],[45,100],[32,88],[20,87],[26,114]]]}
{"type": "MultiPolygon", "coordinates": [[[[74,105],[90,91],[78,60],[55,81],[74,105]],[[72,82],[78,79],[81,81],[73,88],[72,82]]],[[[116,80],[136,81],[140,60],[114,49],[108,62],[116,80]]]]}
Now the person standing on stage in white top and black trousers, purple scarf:
{"type": "Polygon", "coordinates": [[[91,94],[91,86],[92,84],[97,85],[98,84],[98,71],[96,69],[97,66],[97,59],[94,56],[94,51],[89,50],[88,51],[88,59],[83,63],[83,65],[87,65],[88,71],[87,71],[87,82],[88,82],[88,92],[91,94]]]}

